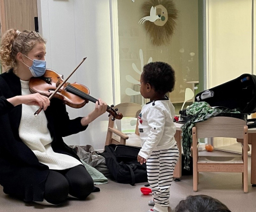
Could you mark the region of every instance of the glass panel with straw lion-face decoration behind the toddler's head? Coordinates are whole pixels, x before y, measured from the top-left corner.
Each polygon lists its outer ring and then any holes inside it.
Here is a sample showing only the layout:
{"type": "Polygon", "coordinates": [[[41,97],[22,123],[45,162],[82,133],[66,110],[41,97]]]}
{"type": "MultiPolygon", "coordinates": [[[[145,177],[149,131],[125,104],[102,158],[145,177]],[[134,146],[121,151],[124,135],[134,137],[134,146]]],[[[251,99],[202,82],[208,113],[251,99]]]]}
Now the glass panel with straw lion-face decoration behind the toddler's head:
{"type": "Polygon", "coordinates": [[[143,66],[162,61],[175,70],[176,85],[169,97],[179,114],[186,88],[194,90],[198,82],[197,1],[111,1],[116,104],[144,105],[147,100],[138,86],[143,66]]]}

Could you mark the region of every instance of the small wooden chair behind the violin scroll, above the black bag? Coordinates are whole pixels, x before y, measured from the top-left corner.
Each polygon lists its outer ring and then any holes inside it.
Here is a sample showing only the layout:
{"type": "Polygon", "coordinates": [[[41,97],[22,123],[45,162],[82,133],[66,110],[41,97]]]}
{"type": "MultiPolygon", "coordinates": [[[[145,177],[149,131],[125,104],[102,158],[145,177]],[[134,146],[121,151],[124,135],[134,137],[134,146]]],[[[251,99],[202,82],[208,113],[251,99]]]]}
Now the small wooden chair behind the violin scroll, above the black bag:
{"type": "MultiPolygon", "coordinates": [[[[118,112],[123,114],[123,118],[131,117],[137,118],[141,112],[141,105],[132,102],[120,103],[114,107],[118,108],[118,112]]],[[[122,121],[122,120],[121,120],[122,121]]],[[[108,123],[108,132],[106,134],[106,142],[105,145],[109,145],[111,143],[115,144],[123,144],[129,146],[141,146],[140,134],[138,132],[138,121],[136,124],[135,133],[126,135],[117,128],[114,127],[115,121],[112,120],[112,117],[109,117],[108,123]]]]}

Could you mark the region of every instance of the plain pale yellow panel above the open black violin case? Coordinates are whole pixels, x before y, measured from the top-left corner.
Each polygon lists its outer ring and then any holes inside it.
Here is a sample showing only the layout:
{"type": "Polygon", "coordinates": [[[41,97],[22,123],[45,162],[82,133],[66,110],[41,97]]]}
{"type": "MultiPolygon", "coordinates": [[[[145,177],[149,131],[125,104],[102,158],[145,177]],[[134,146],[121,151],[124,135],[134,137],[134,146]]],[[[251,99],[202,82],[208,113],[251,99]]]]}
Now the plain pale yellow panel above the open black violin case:
{"type": "Polygon", "coordinates": [[[253,73],[251,0],[208,1],[208,87],[253,73]]]}

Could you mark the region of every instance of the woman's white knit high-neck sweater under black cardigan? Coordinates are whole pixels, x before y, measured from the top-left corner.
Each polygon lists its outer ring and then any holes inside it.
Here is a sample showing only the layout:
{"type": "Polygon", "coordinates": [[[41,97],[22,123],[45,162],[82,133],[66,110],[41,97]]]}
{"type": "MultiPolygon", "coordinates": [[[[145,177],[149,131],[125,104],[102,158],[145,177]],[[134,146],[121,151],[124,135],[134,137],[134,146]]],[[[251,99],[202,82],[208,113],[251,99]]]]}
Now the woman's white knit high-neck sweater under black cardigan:
{"type": "MultiPolygon", "coordinates": [[[[22,95],[31,94],[29,81],[20,80],[22,95]]],[[[52,170],[64,170],[82,164],[79,160],[67,154],[55,153],[52,149],[51,134],[47,128],[47,118],[44,110],[34,116],[38,106],[22,105],[22,119],[19,135],[22,141],[34,152],[40,163],[52,170]]]]}

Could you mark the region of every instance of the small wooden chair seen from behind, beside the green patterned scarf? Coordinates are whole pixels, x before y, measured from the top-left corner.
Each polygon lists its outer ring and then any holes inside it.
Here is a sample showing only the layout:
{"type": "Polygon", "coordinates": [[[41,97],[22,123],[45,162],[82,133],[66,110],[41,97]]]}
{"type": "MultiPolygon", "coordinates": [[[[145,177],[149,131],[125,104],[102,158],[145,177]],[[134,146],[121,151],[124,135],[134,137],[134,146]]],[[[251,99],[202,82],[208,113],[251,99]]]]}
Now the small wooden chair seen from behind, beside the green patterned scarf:
{"type": "Polygon", "coordinates": [[[204,171],[242,173],[244,193],[248,192],[248,127],[246,121],[233,117],[213,117],[196,123],[193,134],[193,190],[197,191],[198,173],[204,171]],[[198,138],[238,138],[243,147],[240,156],[198,156],[198,138]]]}

